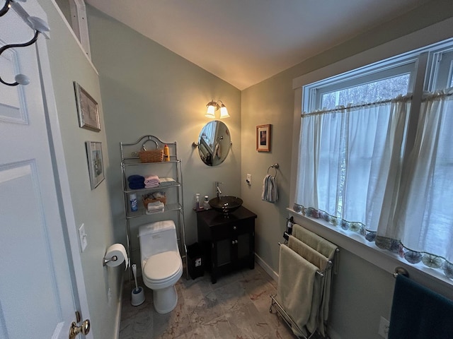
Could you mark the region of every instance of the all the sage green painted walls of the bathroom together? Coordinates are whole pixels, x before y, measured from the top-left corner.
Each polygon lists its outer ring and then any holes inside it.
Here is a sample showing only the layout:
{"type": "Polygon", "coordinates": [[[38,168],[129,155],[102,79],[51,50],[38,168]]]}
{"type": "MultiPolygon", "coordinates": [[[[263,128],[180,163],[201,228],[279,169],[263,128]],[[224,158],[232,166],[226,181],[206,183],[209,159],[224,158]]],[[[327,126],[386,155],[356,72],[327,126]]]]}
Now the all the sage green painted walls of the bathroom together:
{"type": "MultiPolygon", "coordinates": [[[[127,26],[88,6],[93,71],[62,18],[50,1],[38,0],[52,29],[49,40],[52,79],[59,124],[66,153],[76,225],[85,223],[88,247],[81,254],[94,338],[115,338],[120,295],[120,268],[103,268],[101,258],[113,242],[125,243],[120,180],[120,141],[136,141],[155,134],[177,141],[183,160],[185,220],[188,242],[196,240],[193,194],[214,194],[214,181],[224,182],[226,194],[240,195],[244,205],[258,214],[256,252],[263,263],[278,271],[277,241],[285,230],[289,205],[292,150],[292,79],[365,49],[453,16],[450,1],[430,1],[399,20],[360,35],[328,52],[306,60],[241,93],[212,74],[139,35],[127,26]],[[78,81],[101,104],[101,132],[80,129],[76,119],[72,81],[78,81]],[[101,100],[102,95],[102,100],[101,100]],[[202,126],[205,104],[224,100],[231,118],[231,153],[219,167],[207,167],[191,143],[202,126]],[[243,114],[241,114],[241,112],[243,114]],[[258,124],[273,124],[272,150],[257,153],[258,124]],[[106,180],[91,191],[85,141],[103,142],[106,180]],[[268,167],[280,163],[277,180],[280,201],[260,200],[261,180],[268,167]],[[252,174],[246,186],[245,174],[252,174]],[[112,227],[112,224],[114,227],[112,227]],[[109,306],[108,288],[113,301],[109,306]]],[[[340,338],[377,338],[377,316],[389,315],[393,281],[384,271],[347,251],[340,255],[334,284],[331,325],[340,338]],[[367,300],[372,300],[370,307],[367,300]],[[364,302],[365,301],[365,302],[364,302]]]]}

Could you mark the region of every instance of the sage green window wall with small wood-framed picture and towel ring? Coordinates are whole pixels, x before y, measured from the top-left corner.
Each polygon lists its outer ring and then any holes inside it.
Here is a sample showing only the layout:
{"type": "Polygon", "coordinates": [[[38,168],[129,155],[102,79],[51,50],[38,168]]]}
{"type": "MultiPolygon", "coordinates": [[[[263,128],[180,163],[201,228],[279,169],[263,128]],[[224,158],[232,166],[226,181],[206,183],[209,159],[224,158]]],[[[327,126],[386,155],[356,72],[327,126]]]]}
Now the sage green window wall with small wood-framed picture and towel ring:
{"type": "MultiPolygon", "coordinates": [[[[278,272],[279,246],[285,231],[291,177],[294,90],[292,80],[321,69],[397,37],[407,35],[453,16],[451,1],[430,1],[352,40],[278,73],[242,91],[241,173],[252,174],[252,185],[241,185],[243,201],[257,215],[256,254],[268,269],[278,272]],[[272,124],[270,153],[255,150],[256,125],[272,124]],[[260,200],[260,180],[274,162],[280,164],[277,184],[280,201],[275,205],[260,200]]],[[[299,104],[298,104],[299,105],[299,104]]],[[[391,275],[342,249],[340,271],[334,282],[331,306],[331,337],[361,339],[377,335],[379,316],[389,319],[394,281],[391,275]]]]}

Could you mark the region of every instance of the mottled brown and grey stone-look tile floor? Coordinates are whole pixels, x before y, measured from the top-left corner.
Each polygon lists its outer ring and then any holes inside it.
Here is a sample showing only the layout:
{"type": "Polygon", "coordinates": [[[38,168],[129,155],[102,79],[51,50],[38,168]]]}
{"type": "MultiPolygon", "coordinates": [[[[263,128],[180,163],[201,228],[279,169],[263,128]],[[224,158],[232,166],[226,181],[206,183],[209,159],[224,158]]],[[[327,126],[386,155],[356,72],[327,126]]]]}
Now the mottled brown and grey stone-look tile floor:
{"type": "Polygon", "coordinates": [[[125,283],[120,339],[297,338],[275,311],[269,312],[269,295],[276,289],[277,283],[258,265],[221,276],[214,285],[209,273],[195,280],[183,275],[176,284],[178,306],[158,314],[151,290],[145,287],[146,301],[133,307],[130,285],[125,283]]]}

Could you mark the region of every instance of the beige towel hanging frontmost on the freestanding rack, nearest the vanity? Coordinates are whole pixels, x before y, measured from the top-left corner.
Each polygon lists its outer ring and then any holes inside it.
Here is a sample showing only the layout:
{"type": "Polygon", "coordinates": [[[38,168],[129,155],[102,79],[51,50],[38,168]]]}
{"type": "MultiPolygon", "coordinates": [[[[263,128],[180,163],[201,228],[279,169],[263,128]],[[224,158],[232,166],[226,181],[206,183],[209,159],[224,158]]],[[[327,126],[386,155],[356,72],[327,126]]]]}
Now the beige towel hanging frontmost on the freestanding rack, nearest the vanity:
{"type": "MultiPolygon", "coordinates": [[[[311,314],[313,287],[319,268],[299,256],[285,244],[280,245],[277,299],[292,321],[303,331],[311,314]]],[[[300,333],[292,328],[295,335],[300,333]]]]}

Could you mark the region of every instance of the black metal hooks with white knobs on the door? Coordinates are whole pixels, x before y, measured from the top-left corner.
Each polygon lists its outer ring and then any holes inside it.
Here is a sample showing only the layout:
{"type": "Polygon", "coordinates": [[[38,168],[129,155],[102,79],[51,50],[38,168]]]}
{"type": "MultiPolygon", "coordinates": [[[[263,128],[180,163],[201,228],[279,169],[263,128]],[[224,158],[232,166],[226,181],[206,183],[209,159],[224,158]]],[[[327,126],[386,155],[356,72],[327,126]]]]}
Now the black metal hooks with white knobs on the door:
{"type": "MultiPolygon", "coordinates": [[[[42,20],[41,18],[37,18],[35,16],[29,16],[25,9],[23,9],[22,6],[17,3],[17,1],[25,0],[6,0],[4,6],[0,9],[0,17],[4,16],[11,9],[11,7],[14,7],[14,10],[16,11],[16,13],[18,13],[18,16],[20,16],[25,21],[25,23],[35,31],[35,34],[28,42],[24,42],[22,44],[5,44],[3,47],[0,48],[0,56],[3,52],[6,51],[6,49],[16,47],[27,47],[30,46],[31,44],[34,44],[36,40],[38,40],[38,35],[40,33],[50,31],[49,26],[44,20],[42,20]]],[[[4,81],[0,76],[0,83],[3,83],[4,85],[8,86],[28,85],[28,83],[30,83],[30,79],[28,78],[28,76],[25,76],[24,74],[17,74],[14,80],[15,81],[13,83],[8,83],[4,81]]]]}

